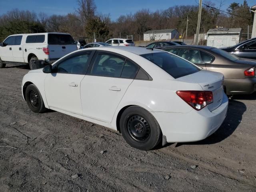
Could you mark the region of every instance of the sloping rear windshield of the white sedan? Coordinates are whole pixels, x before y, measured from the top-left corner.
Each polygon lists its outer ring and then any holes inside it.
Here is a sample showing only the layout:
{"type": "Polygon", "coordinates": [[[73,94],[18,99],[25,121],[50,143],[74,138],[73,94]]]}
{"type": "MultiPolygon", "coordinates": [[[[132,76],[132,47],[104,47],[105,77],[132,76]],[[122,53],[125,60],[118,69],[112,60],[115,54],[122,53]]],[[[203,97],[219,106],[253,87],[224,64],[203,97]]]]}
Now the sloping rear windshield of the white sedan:
{"type": "Polygon", "coordinates": [[[166,52],[154,52],[140,56],[156,64],[175,79],[200,71],[190,62],[166,52]]]}

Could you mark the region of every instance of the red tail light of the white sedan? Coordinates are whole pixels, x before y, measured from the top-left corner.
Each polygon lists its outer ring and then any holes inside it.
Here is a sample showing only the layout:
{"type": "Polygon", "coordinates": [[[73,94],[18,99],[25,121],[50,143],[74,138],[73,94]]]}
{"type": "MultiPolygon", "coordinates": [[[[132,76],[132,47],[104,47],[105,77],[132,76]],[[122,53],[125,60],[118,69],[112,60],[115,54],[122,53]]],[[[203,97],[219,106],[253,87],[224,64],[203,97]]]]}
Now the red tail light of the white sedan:
{"type": "Polygon", "coordinates": [[[211,91],[176,91],[176,94],[198,111],[213,102],[211,91]]]}

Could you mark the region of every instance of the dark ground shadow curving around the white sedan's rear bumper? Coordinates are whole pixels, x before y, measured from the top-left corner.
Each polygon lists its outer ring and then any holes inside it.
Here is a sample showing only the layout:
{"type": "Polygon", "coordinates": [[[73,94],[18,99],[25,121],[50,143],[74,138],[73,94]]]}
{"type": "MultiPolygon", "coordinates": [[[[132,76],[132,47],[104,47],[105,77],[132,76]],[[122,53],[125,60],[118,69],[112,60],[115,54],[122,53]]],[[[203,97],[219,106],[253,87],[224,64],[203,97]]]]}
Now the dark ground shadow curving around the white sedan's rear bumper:
{"type": "MultiPolygon", "coordinates": [[[[226,119],[216,132],[214,132],[212,135],[205,138],[204,140],[197,142],[177,143],[175,147],[179,147],[182,145],[216,144],[218,142],[221,142],[222,140],[225,140],[226,138],[231,136],[232,133],[236,130],[242,120],[242,115],[245,111],[246,105],[244,103],[229,99],[228,113],[226,119]]],[[[170,146],[172,144],[173,143],[168,143],[166,146],[170,146]]]]}

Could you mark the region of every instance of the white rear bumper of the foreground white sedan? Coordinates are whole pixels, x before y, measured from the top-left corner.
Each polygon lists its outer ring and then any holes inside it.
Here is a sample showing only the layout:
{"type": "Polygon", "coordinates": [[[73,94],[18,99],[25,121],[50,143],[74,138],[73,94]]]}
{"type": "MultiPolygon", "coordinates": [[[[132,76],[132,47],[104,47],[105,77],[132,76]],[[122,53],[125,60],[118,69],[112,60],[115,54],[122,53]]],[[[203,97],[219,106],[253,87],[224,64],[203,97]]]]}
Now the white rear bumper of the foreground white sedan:
{"type": "Polygon", "coordinates": [[[188,113],[152,112],[167,142],[194,142],[213,134],[226,118],[228,97],[224,94],[222,104],[210,112],[207,107],[188,113]]]}

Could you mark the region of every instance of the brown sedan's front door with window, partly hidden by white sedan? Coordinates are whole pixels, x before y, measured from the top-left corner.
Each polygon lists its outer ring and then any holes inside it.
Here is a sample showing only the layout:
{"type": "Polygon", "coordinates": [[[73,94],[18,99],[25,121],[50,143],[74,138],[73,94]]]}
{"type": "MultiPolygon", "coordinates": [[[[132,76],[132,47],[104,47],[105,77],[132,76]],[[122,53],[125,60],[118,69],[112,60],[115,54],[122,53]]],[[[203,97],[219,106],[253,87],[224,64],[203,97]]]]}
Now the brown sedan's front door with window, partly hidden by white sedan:
{"type": "Polygon", "coordinates": [[[178,56],[196,64],[201,69],[206,70],[205,64],[202,62],[200,51],[196,49],[180,49],[178,56]]]}

